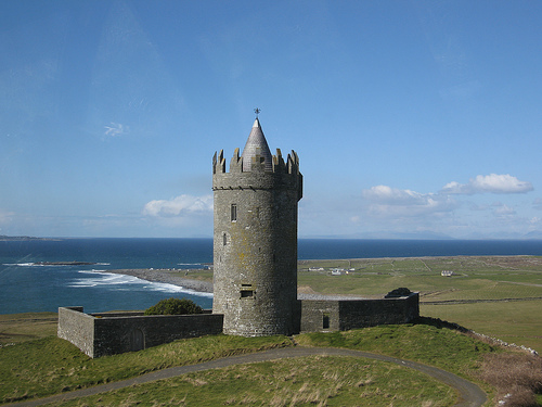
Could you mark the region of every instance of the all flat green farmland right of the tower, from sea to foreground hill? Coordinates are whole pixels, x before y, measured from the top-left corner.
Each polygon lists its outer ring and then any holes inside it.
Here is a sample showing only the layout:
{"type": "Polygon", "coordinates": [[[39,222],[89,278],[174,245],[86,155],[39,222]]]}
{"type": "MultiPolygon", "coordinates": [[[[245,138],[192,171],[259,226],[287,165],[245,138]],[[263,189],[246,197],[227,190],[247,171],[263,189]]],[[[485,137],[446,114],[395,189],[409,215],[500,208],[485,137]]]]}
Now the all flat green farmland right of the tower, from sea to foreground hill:
{"type": "Polygon", "coordinates": [[[382,297],[421,293],[421,314],[542,353],[542,257],[456,256],[299,262],[300,292],[382,297]],[[324,271],[308,271],[324,267],[324,271]],[[332,276],[330,268],[351,269],[332,276]],[[442,277],[441,271],[453,271],[442,277]]]}

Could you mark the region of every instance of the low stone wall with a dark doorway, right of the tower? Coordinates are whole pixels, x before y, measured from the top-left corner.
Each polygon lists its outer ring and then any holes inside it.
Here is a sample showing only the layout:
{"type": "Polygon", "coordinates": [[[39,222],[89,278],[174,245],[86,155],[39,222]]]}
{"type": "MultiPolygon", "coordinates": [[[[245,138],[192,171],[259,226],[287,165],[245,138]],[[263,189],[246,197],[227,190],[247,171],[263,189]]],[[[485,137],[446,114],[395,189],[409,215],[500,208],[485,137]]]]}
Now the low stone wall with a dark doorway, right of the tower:
{"type": "Polygon", "coordinates": [[[301,301],[301,332],[406,323],[420,317],[420,294],[380,300],[301,301]]]}

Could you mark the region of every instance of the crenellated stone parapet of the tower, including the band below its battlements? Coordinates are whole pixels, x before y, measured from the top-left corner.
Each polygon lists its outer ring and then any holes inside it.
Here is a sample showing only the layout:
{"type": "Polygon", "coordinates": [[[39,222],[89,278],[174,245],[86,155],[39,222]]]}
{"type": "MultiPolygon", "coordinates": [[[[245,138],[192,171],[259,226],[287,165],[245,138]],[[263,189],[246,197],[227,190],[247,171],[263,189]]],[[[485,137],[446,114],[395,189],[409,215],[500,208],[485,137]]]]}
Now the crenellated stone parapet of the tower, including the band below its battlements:
{"type": "MultiPolygon", "coordinates": [[[[244,170],[243,156],[235,149],[227,171],[227,160],[223,150],[212,156],[212,190],[267,190],[287,189],[298,191],[298,200],[302,198],[302,175],[299,171],[299,157],[292,150],[286,161],[280,149],[272,156],[271,170],[266,170],[266,158],[255,154],[250,157],[250,170],[244,170]]],[[[269,166],[268,166],[269,167],[269,166]]]]}

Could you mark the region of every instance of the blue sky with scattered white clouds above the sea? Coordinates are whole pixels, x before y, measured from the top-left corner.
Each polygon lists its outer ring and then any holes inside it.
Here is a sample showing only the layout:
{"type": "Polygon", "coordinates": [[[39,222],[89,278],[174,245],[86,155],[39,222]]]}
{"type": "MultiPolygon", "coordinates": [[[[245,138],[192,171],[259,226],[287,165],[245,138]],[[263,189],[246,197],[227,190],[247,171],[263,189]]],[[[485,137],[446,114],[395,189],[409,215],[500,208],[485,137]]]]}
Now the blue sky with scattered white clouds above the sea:
{"type": "MultiPolygon", "coordinates": [[[[300,237],[542,233],[542,2],[2,1],[0,234],[210,237],[255,114],[300,237]]],[[[539,234],[539,237],[542,234],[539,234]]]]}

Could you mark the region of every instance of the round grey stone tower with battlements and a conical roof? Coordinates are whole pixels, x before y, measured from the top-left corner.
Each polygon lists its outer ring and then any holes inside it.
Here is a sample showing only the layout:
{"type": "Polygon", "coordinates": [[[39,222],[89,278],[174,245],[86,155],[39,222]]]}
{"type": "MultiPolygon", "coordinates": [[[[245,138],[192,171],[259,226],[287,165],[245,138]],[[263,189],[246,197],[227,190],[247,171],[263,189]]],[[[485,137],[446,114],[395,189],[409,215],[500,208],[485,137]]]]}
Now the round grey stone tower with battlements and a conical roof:
{"type": "Polygon", "coordinates": [[[215,194],[212,313],[223,331],[243,336],[292,334],[297,302],[299,160],[271,155],[258,118],[229,171],[223,151],[212,157],[215,194]]]}

